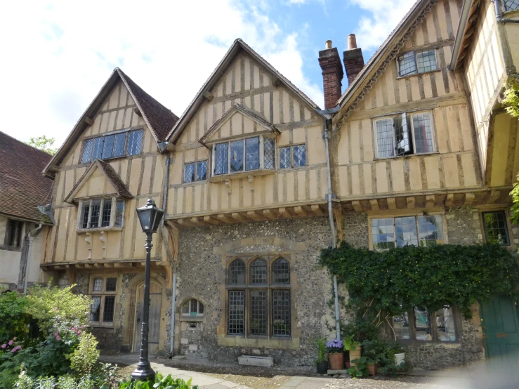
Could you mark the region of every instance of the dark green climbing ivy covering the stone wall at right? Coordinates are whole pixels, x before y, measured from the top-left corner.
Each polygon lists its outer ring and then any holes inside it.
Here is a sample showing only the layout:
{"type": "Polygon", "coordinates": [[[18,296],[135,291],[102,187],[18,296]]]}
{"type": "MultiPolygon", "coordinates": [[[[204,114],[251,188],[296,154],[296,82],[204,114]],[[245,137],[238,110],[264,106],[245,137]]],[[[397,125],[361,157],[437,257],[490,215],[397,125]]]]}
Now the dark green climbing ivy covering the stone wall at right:
{"type": "Polygon", "coordinates": [[[469,318],[471,305],[491,294],[519,297],[518,258],[496,244],[371,251],[343,242],[322,250],[320,263],[346,284],[347,307],[357,319],[380,325],[413,307],[456,305],[469,318]]]}

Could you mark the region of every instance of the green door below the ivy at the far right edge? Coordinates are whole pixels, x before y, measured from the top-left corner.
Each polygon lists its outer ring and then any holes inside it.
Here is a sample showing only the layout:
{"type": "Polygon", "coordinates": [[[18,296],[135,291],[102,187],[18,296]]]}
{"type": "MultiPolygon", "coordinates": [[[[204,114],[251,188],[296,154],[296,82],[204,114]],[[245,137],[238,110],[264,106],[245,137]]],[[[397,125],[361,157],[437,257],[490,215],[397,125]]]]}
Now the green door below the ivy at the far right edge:
{"type": "Polygon", "coordinates": [[[519,368],[519,315],[512,298],[492,296],[481,304],[485,354],[490,364],[519,368]]]}

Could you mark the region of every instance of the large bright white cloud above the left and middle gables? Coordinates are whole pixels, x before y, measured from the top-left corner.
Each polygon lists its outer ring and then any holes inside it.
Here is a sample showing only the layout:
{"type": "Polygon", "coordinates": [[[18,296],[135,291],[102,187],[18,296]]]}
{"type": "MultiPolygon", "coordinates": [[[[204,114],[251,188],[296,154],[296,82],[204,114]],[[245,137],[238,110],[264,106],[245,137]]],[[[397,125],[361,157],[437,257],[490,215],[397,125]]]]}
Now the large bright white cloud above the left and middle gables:
{"type": "Polygon", "coordinates": [[[303,75],[295,32],[261,11],[221,1],[17,1],[4,7],[0,105],[20,140],[62,143],[114,67],[180,115],[228,47],[240,37],[322,105],[303,75]]]}

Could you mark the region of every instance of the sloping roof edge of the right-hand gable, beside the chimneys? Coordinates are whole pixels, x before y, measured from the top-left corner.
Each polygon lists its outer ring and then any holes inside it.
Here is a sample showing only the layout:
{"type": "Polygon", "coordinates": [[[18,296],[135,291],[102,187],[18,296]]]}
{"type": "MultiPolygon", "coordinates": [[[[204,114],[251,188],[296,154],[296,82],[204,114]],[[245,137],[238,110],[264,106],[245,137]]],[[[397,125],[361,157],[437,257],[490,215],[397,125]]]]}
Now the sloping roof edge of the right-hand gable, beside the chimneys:
{"type": "Polygon", "coordinates": [[[409,39],[416,27],[423,22],[427,13],[438,3],[438,0],[418,0],[400,20],[397,27],[389,34],[381,46],[369,58],[367,64],[362,68],[355,80],[348,86],[346,91],[341,95],[337,104],[341,107],[341,111],[337,114],[336,119],[341,119],[346,112],[343,107],[352,105],[351,110],[355,109],[358,103],[364,98],[364,95],[372,88],[376,80],[386,70],[387,65],[393,60],[409,39]],[[354,100],[355,99],[355,100],[354,100]],[[356,103],[356,104],[355,104],[356,103]]]}

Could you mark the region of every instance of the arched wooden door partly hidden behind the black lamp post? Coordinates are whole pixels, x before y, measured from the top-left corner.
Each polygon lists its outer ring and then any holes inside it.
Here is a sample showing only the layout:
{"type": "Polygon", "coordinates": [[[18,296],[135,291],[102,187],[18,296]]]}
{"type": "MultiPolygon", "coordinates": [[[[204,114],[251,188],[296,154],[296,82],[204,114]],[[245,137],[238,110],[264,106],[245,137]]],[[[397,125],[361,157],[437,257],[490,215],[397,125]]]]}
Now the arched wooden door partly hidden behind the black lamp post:
{"type": "MultiPolygon", "coordinates": [[[[140,350],[140,331],[143,322],[143,296],[144,284],[138,287],[136,294],[136,314],[135,314],[135,330],[133,334],[133,352],[140,350]]],[[[160,331],[160,305],[162,301],[162,286],[155,282],[150,284],[150,325],[148,334],[148,352],[150,355],[155,354],[159,348],[159,331],[160,331]]]]}

